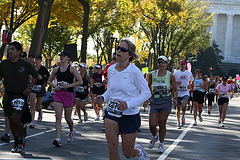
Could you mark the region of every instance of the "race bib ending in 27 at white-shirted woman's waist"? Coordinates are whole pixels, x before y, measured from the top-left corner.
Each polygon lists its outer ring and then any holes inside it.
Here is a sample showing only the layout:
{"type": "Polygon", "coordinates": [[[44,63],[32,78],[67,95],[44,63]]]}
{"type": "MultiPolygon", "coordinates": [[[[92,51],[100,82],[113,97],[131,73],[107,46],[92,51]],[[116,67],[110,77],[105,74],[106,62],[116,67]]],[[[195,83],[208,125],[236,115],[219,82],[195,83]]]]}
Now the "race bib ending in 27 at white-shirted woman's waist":
{"type": "Polygon", "coordinates": [[[110,99],[108,101],[106,111],[109,115],[114,117],[122,117],[122,111],[117,108],[117,105],[119,104],[119,101],[117,99],[110,99]]]}

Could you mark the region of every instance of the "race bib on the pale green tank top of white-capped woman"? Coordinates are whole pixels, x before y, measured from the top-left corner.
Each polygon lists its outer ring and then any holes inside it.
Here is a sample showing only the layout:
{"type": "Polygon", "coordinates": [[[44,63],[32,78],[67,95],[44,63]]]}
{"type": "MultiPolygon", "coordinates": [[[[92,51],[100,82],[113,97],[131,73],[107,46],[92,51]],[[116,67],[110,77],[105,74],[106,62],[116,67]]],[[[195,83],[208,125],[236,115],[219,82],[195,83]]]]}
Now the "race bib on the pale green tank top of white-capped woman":
{"type": "Polygon", "coordinates": [[[153,98],[162,98],[169,95],[167,85],[165,83],[157,83],[153,85],[153,98]]]}

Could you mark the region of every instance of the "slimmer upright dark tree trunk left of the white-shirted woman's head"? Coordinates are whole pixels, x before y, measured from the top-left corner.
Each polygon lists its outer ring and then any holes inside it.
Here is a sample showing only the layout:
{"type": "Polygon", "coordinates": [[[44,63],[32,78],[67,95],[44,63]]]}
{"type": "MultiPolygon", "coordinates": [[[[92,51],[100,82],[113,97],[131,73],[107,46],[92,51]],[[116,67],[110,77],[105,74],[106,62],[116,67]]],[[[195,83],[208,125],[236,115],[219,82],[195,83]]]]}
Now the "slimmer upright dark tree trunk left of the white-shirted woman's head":
{"type": "Polygon", "coordinates": [[[81,46],[81,62],[86,63],[87,60],[87,39],[88,39],[88,21],[90,6],[86,0],[78,0],[83,5],[84,16],[83,16],[83,35],[82,35],[82,46],[81,46]]]}

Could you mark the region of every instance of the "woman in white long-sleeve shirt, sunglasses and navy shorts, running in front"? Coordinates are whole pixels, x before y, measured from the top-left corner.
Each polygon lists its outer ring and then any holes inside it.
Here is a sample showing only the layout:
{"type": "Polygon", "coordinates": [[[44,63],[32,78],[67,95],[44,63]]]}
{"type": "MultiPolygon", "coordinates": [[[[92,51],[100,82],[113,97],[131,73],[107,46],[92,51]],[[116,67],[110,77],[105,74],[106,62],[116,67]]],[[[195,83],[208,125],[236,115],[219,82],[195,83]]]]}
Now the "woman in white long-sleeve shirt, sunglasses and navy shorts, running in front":
{"type": "Polygon", "coordinates": [[[139,159],[150,159],[142,145],[135,145],[141,125],[138,107],[151,97],[143,73],[131,63],[138,58],[135,50],[136,47],[131,41],[120,41],[117,47],[118,63],[108,68],[107,91],[97,97],[98,103],[108,102],[105,110],[105,128],[109,159],[120,159],[119,134],[122,137],[122,152],[126,158],[138,156],[139,159]]]}

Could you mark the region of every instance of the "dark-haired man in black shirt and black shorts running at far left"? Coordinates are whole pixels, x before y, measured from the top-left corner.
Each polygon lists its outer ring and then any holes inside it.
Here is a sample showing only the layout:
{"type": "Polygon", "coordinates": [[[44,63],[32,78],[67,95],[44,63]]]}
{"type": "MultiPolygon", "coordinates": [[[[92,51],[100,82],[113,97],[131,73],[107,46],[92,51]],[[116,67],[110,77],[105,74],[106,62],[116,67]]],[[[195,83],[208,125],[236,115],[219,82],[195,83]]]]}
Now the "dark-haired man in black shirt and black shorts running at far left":
{"type": "Polygon", "coordinates": [[[27,96],[38,76],[33,65],[20,58],[21,53],[22,45],[16,41],[11,42],[8,47],[9,58],[0,63],[0,80],[4,78],[5,88],[3,109],[10,121],[15,141],[12,152],[21,152],[25,148],[21,116],[27,107],[27,96]],[[29,74],[33,77],[30,84],[29,74]]]}

